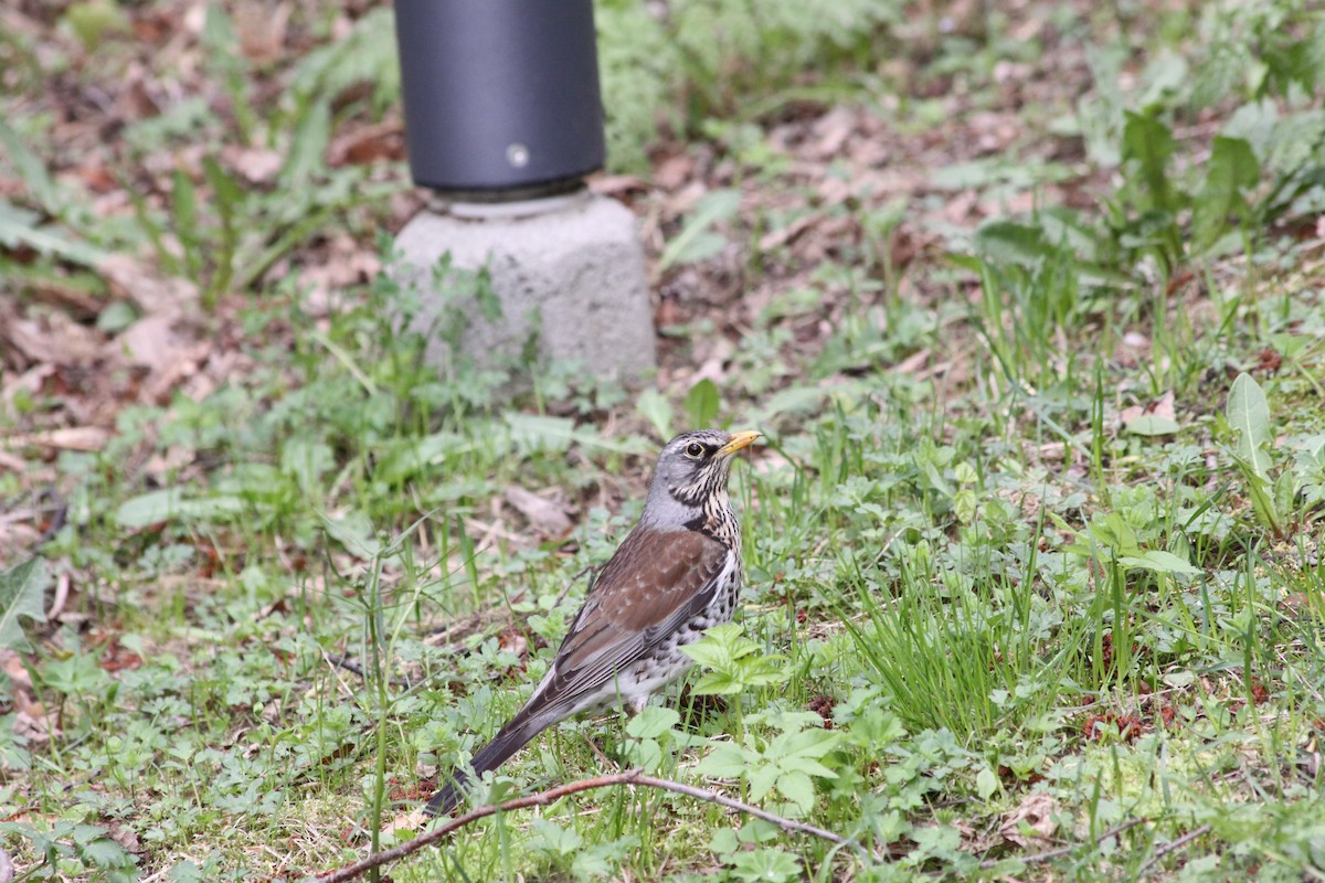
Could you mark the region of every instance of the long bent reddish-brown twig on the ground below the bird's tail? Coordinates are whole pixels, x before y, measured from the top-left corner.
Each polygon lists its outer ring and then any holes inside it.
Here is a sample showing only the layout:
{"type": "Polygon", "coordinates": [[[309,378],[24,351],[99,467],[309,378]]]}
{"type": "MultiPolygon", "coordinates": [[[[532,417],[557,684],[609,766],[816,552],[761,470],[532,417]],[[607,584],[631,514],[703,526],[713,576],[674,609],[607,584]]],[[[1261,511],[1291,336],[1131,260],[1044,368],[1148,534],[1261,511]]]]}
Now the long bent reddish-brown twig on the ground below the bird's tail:
{"type": "Polygon", "coordinates": [[[717,804],[718,806],[726,806],[727,809],[734,809],[755,818],[762,818],[766,822],[771,822],[784,831],[795,831],[798,834],[810,834],[820,839],[837,843],[839,846],[847,846],[848,849],[859,853],[864,859],[869,859],[869,853],[865,849],[849,841],[840,834],[816,827],[814,825],[807,825],[806,822],[798,822],[792,818],[783,818],[767,810],[759,809],[758,806],[751,806],[750,804],[742,804],[738,800],[731,800],[730,797],[723,797],[710,790],[702,788],[694,788],[692,785],[682,785],[681,782],[673,782],[666,778],[655,778],[652,776],[643,776],[639,770],[631,770],[625,773],[617,773],[615,776],[599,776],[598,778],[586,778],[578,782],[570,782],[566,785],[558,785],[556,788],[549,788],[538,794],[530,794],[529,797],[517,797],[515,800],[509,800],[500,806],[480,806],[474,810],[465,813],[458,818],[453,818],[443,825],[439,825],[427,834],[421,834],[408,843],[401,843],[400,846],[384,850],[370,855],[354,864],[347,864],[339,870],[331,871],[325,876],[317,878],[318,883],[344,883],[346,880],[352,880],[356,876],[383,864],[390,864],[398,862],[407,855],[417,853],[424,846],[436,843],[437,841],[445,838],[452,831],[456,831],[472,822],[477,822],[480,818],[486,818],[496,813],[509,813],[514,809],[526,809],[529,806],[547,806],[553,801],[560,800],[567,794],[576,794],[579,792],[594,790],[596,788],[612,788],[616,785],[643,785],[645,788],[659,788],[662,790],[669,790],[677,794],[685,794],[686,797],[694,797],[709,804],[717,804]]]}

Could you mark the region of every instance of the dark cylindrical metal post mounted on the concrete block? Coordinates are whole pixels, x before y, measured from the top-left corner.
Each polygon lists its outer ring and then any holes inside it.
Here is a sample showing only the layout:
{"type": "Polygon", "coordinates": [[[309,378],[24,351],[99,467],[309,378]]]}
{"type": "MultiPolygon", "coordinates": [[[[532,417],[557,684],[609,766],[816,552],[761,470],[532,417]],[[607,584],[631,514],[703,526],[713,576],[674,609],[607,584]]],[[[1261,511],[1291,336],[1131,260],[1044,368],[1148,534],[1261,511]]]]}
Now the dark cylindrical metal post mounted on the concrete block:
{"type": "Polygon", "coordinates": [[[395,12],[416,184],[529,199],[602,168],[592,0],[396,0],[395,12]]]}

